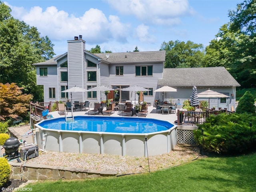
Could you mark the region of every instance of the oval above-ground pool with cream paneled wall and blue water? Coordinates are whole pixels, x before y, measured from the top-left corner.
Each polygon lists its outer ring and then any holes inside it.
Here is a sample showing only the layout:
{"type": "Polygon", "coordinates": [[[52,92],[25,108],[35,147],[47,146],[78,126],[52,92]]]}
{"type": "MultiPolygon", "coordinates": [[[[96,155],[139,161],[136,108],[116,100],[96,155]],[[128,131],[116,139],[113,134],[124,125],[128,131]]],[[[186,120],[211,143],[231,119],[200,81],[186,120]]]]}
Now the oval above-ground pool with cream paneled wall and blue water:
{"type": "Polygon", "coordinates": [[[127,156],[164,154],[176,145],[176,125],[152,118],[75,116],[35,125],[43,150],[127,156]]]}

